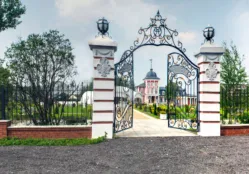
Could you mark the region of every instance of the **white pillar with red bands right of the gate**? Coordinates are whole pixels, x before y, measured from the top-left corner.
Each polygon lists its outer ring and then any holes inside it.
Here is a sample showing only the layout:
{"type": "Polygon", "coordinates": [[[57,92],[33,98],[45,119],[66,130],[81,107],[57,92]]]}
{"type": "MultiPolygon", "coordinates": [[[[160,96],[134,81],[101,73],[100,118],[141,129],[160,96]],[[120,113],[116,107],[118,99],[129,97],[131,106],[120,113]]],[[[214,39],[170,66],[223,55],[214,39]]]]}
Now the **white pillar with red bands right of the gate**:
{"type": "Polygon", "coordinates": [[[200,136],[220,136],[220,56],[224,49],[206,42],[195,56],[199,72],[200,136]]]}

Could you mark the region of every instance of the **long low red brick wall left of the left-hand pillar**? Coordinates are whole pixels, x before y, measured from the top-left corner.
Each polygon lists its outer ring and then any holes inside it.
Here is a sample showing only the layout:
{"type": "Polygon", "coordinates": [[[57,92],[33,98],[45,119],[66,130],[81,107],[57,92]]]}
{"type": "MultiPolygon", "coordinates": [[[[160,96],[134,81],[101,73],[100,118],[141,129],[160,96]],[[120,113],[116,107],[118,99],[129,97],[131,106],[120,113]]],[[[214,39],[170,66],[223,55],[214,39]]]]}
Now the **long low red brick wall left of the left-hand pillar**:
{"type": "Polygon", "coordinates": [[[0,138],[92,138],[92,126],[32,126],[15,127],[11,122],[0,122],[0,138]],[[2,123],[2,124],[1,124],[2,123]]]}

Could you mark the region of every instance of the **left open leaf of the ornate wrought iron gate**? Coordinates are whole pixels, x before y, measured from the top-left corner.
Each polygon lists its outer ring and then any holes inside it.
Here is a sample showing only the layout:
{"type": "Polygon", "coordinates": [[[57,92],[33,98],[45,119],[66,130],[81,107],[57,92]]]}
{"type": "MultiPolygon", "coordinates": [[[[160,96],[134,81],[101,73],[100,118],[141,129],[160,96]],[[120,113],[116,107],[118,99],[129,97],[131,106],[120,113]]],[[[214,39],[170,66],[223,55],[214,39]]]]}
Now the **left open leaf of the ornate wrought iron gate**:
{"type": "Polygon", "coordinates": [[[114,132],[133,126],[133,54],[127,51],[122,58],[115,64],[114,132]]]}

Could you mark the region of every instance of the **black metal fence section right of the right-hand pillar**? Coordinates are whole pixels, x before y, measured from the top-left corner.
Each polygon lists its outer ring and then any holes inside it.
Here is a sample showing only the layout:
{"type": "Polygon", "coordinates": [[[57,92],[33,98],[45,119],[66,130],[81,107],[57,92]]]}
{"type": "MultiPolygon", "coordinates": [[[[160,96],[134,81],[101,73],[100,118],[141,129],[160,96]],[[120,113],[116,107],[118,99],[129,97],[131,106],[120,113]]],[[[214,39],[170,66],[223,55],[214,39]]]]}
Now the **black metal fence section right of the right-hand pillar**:
{"type": "Polygon", "coordinates": [[[249,84],[221,84],[222,124],[249,123],[249,84]]]}

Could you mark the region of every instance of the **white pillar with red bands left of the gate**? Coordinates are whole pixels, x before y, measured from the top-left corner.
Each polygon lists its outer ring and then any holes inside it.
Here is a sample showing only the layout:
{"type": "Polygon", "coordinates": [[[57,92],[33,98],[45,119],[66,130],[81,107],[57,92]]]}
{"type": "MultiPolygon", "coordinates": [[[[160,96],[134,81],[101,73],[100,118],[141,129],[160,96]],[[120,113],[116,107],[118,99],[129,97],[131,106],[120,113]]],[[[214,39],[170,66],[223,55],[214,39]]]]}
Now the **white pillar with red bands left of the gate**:
{"type": "Polygon", "coordinates": [[[93,115],[92,138],[107,133],[113,137],[114,118],[114,53],[117,43],[107,36],[89,41],[93,52],[93,115]]]}

